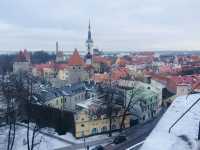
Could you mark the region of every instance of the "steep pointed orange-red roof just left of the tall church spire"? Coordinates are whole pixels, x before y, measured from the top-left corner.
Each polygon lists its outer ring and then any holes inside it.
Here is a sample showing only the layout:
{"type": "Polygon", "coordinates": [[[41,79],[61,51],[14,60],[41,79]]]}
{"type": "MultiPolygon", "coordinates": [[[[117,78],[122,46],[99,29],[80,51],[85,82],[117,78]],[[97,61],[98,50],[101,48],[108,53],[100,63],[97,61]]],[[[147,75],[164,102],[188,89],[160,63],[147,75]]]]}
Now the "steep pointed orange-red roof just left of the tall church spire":
{"type": "Polygon", "coordinates": [[[84,61],[81,58],[81,56],[79,55],[79,52],[77,49],[74,50],[73,55],[69,58],[69,62],[68,65],[70,66],[80,66],[80,65],[84,65],[84,61]]]}

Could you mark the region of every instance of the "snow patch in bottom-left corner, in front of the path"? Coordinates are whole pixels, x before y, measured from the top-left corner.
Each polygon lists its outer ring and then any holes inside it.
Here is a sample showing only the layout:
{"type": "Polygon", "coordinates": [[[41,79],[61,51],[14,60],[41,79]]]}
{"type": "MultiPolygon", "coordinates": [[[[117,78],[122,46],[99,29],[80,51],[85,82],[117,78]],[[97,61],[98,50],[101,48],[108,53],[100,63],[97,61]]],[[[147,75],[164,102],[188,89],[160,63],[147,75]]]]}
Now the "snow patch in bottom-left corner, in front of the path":
{"type": "MultiPolygon", "coordinates": [[[[0,150],[6,149],[8,126],[0,128],[0,150]]],[[[13,150],[27,150],[26,140],[27,129],[25,127],[16,126],[16,137],[13,150]]],[[[32,131],[30,130],[30,135],[32,131]]],[[[31,138],[30,138],[31,139],[31,138]]],[[[69,144],[58,141],[57,139],[38,134],[35,140],[35,150],[53,150],[56,148],[69,146],[69,144]]]]}

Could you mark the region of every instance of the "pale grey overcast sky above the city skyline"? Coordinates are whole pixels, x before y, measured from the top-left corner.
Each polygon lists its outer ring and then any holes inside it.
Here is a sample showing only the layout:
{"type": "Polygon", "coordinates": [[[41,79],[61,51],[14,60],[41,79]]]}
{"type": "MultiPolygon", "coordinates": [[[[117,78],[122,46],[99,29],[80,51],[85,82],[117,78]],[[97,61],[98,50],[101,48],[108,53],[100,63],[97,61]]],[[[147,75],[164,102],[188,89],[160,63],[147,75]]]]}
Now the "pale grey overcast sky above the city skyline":
{"type": "Polygon", "coordinates": [[[200,50],[200,0],[0,0],[0,50],[200,50]]]}

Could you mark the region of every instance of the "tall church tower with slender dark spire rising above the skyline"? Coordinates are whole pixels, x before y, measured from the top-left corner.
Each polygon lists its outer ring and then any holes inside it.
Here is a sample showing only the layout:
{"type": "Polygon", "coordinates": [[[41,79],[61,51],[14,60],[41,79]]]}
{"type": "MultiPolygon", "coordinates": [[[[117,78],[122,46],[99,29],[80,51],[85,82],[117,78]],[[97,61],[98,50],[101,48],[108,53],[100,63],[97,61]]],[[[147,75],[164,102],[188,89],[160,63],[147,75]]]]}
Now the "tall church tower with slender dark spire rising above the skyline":
{"type": "Polygon", "coordinates": [[[88,37],[86,40],[86,46],[87,46],[87,54],[85,56],[85,63],[87,65],[92,64],[92,47],[93,47],[93,40],[92,40],[92,35],[91,35],[91,27],[90,27],[90,21],[88,25],[88,37]]]}

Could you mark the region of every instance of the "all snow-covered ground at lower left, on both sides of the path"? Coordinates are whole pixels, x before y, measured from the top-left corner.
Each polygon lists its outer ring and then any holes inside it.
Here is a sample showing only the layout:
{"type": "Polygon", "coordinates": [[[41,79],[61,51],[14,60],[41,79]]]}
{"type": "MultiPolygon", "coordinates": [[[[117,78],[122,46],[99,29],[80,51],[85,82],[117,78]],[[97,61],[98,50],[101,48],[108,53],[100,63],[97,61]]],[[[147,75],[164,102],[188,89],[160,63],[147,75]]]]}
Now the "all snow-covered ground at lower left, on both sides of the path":
{"type": "MultiPolygon", "coordinates": [[[[9,131],[8,126],[0,127],[0,150],[6,149],[8,131],[9,131]]],[[[71,133],[67,133],[65,135],[58,135],[52,128],[43,128],[41,129],[41,131],[50,133],[54,136],[62,138],[73,144],[84,143],[84,139],[76,139],[71,133]]],[[[26,133],[27,133],[26,127],[19,126],[19,125],[16,126],[16,137],[15,137],[13,150],[27,150],[26,133]]],[[[118,134],[117,132],[113,133],[113,135],[117,135],[117,134],[118,134]]],[[[30,135],[32,135],[32,130],[30,130],[30,135]]],[[[107,139],[107,138],[108,138],[107,134],[91,136],[91,137],[85,138],[85,142],[92,142],[92,141],[102,140],[102,139],[107,139]]],[[[57,148],[62,148],[62,147],[67,147],[67,146],[72,146],[72,145],[67,142],[60,141],[58,139],[39,133],[35,140],[34,150],[54,150],[57,148]]]]}

